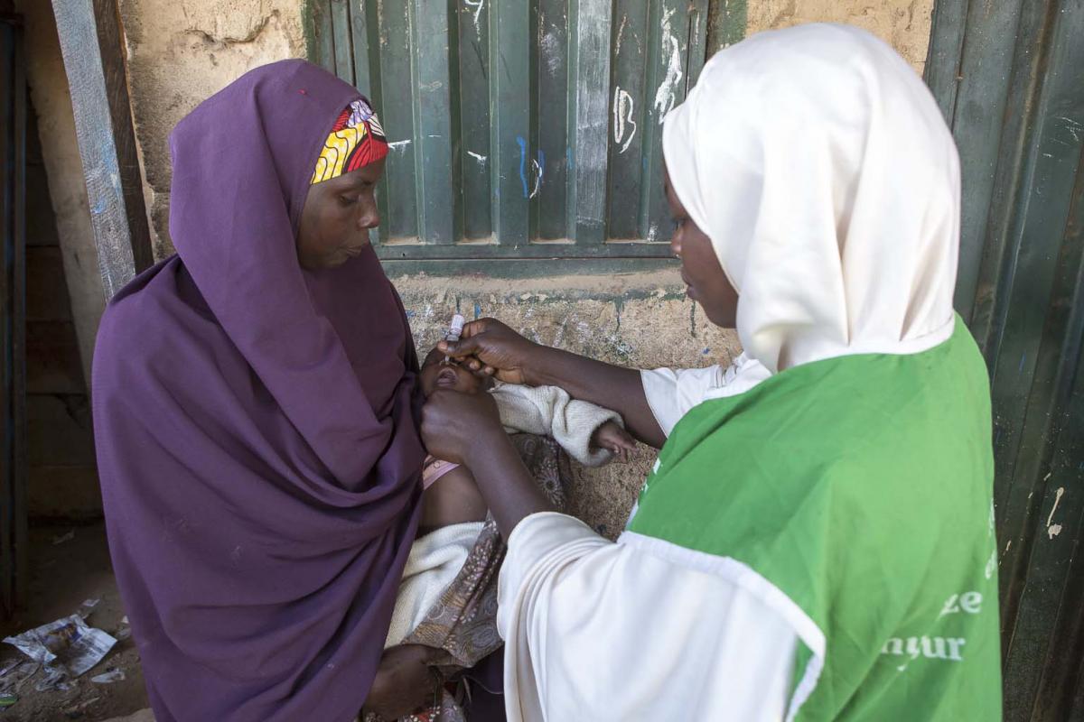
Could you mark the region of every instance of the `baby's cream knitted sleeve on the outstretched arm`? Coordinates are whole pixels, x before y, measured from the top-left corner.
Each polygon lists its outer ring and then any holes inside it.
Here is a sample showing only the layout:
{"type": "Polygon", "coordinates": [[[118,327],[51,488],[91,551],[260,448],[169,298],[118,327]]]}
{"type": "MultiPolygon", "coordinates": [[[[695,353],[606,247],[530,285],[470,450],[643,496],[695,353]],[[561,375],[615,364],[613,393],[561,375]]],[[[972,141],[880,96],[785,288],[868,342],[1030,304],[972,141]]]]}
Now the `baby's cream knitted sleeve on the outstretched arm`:
{"type": "Polygon", "coordinates": [[[558,386],[502,383],[490,393],[506,431],[553,436],[573,459],[589,467],[602,465],[612,458],[614,454],[607,449],[592,449],[591,437],[607,421],[623,426],[617,411],[575,399],[558,386]]]}

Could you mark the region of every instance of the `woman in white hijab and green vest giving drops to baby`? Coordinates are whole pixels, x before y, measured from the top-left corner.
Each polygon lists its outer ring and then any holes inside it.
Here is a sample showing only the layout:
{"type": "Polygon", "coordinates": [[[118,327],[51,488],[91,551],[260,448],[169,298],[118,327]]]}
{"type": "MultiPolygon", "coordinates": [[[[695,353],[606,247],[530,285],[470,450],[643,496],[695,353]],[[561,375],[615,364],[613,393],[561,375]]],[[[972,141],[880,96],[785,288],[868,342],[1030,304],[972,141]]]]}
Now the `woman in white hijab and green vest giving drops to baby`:
{"type": "Polygon", "coordinates": [[[488,398],[426,408],[508,537],[508,719],[999,719],[990,398],[932,97],[864,31],[764,32],[663,152],[688,293],[739,364],[637,372],[491,319],[449,344],[662,447],[617,543],[546,511],[488,398]]]}

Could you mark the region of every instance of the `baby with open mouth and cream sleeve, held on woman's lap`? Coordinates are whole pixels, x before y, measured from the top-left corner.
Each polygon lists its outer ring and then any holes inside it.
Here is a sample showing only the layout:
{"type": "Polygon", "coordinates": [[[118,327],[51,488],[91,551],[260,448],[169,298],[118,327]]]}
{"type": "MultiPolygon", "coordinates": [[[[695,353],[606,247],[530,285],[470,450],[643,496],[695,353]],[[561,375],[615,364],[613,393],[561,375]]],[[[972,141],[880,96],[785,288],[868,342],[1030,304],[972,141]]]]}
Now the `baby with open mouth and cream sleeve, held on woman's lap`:
{"type": "MultiPolygon", "coordinates": [[[[627,458],[635,448],[617,412],[572,399],[556,386],[521,386],[473,373],[454,360],[446,363],[437,349],[425,358],[421,382],[426,396],[437,389],[492,394],[505,431],[552,436],[588,465],[606,463],[615,455],[627,458]]],[[[468,469],[429,457],[422,481],[417,538],[403,570],[385,648],[401,644],[431,648],[435,654],[425,664],[454,673],[501,645],[496,572],[504,546],[468,469]]],[[[462,709],[448,692],[439,705],[439,713],[413,719],[462,719],[462,709]]]]}

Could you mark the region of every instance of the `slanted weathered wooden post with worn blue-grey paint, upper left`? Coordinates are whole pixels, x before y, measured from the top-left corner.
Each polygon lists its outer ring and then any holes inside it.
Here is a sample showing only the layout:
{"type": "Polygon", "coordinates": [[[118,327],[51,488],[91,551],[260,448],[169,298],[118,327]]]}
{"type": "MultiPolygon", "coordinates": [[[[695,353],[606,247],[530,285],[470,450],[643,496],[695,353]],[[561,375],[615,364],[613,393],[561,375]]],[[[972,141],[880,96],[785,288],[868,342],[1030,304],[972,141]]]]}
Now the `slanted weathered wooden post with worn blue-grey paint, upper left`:
{"type": "Polygon", "coordinates": [[[106,298],[151,265],[116,0],[53,0],[106,298]]]}

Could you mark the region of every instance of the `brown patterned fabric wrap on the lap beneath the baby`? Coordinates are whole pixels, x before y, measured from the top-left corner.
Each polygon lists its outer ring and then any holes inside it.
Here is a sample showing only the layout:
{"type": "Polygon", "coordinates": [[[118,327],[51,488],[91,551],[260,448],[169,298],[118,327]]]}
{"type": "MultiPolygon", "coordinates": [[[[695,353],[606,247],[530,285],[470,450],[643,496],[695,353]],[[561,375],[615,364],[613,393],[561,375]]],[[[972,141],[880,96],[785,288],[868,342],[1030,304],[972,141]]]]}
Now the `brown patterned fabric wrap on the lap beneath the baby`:
{"type": "MultiPolygon", "coordinates": [[[[549,436],[513,434],[512,443],[550,502],[557,510],[564,510],[572,478],[568,456],[549,436]]],[[[438,667],[450,682],[439,703],[439,711],[434,708],[399,722],[466,721],[464,707],[469,706],[469,692],[460,672],[474,667],[503,644],[496,631],[496,580],[505,551],[496,523],[492,517],[487,518],[459,576],[441,593],[425,620],[402,641],[442,651],[443,659],[438,661],[438,667]]],[[[373,713],[362,719],[384,722],[373,713]]]]}

